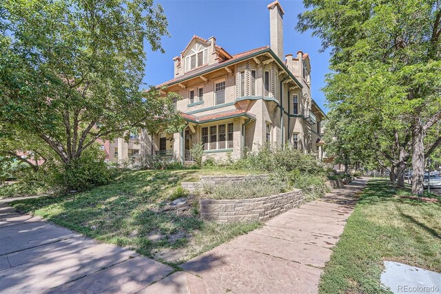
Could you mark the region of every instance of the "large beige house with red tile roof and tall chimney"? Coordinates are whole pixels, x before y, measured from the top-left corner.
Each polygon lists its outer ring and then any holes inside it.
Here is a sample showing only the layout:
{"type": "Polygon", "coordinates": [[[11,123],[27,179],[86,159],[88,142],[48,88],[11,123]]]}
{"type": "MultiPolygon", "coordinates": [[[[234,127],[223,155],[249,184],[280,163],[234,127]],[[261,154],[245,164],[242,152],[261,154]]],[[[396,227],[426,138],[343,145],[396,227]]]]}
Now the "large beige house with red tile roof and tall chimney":
{"type": "MultiPolygon", "coordinates": [[[[192,145],[203,142],[205,155],[223,159],[231,152],[237,159],[244,147],[288,143],[322,159],[320,125],[326,116],[311,98],[309,56],[283,54],[285,12],[278,1],[267,7],[270,46],[229,54],[214,36],[195,35],[173,59],[173,78],[156,87],[183,97],[176,107],[187,125],[175,134],[142,132],[141,155],[189,160],[192,145]]],[[[120,158],[130,147],[118,148],[120,158]]]]}

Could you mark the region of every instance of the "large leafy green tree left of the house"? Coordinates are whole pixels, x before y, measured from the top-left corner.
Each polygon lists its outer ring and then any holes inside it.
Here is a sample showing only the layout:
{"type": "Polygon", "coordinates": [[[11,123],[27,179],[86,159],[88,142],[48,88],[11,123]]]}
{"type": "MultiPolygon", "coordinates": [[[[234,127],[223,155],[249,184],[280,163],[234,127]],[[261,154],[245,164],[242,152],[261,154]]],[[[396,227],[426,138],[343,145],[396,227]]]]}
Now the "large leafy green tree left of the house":
{"type": "Polygon", "coordinates": [[[5,0],[0,32],[0,130],[30,138],[10,151],[48,149],[72,166],[97,138],[180,125],[172,97],[140,90],[144,41],[163,51],[168,35],[152,0],[5,0]]]}

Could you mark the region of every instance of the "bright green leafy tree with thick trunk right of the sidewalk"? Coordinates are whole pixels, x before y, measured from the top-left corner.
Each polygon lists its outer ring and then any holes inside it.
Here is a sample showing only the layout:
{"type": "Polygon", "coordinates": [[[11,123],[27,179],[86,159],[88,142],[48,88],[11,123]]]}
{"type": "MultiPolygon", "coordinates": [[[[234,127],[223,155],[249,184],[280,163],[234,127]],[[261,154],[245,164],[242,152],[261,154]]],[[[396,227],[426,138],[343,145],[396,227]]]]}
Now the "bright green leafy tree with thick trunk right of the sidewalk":
{"type": "Polygon", "coordinates": [[[331,49],[325,87],[331,107],[356,112],[367,123],[359,132],[383,127],[393,134],[384,136],[388,144],[406,149],[409,138],[412,191],[422,194],[424,157],[441,143],[435,138],[424,150],[426,134],[441,120],[440,1],[304,3],[311,10],[300,14],[297,29],[313,30],[322,50],[331,49]]]}

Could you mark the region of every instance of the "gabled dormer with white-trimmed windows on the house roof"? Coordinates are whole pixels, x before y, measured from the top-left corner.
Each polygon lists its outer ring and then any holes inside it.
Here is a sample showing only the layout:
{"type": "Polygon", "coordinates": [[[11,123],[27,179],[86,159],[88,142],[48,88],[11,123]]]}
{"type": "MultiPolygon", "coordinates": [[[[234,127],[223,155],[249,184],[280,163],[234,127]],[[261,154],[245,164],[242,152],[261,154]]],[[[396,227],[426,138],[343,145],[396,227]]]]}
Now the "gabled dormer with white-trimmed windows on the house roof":
{"type": "Polygon", "coordinates": [[[194,35],[180,56],[174,60],[174,75],[180,76],[205,65],[212,65],[232,59],[232,56],[222,47],[216,45],[216,38],[208,40],[194,35]]]}

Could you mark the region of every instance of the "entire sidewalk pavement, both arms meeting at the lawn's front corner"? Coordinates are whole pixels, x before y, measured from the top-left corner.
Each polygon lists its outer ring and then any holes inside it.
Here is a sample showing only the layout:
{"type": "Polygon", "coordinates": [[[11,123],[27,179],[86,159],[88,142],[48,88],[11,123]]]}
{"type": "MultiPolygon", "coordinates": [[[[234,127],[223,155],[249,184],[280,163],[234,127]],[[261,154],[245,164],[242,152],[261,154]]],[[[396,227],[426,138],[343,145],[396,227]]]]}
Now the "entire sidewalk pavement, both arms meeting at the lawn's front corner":
{"type": "Polygon", "coordinates": [[[291,209],[172,275],[170,266],[21,215],[1,200],[0,293],[316,293],[366,182],[291,209]]]}

